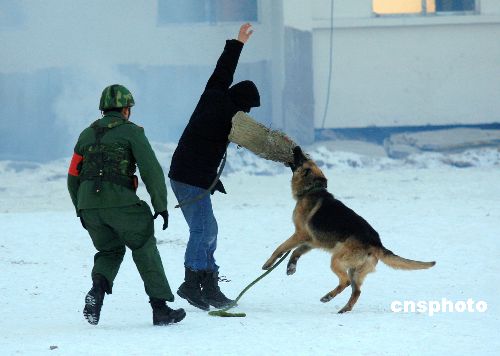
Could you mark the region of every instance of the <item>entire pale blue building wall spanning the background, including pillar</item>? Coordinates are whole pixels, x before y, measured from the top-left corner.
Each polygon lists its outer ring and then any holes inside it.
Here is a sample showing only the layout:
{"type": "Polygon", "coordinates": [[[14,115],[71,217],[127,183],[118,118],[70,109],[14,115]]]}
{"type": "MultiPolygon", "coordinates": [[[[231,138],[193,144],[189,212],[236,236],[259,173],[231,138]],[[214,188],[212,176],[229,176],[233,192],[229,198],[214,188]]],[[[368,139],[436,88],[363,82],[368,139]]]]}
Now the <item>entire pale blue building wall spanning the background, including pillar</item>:
{"type": "MultiPolygon", "coordinates": [[[[258,0],[235,80],[257,83],[253,116],[301,143],[323,127],[499,122],[500,1],[476,3],[463,16],[375,16],[372,0],[335,0],[328,91],[332,1],[258,0]]],[[[158,4],[0,2],[0,159],[67,154],[117,82],[151,139],[175,141],[240,21],[165,24],[158,4]]]]}

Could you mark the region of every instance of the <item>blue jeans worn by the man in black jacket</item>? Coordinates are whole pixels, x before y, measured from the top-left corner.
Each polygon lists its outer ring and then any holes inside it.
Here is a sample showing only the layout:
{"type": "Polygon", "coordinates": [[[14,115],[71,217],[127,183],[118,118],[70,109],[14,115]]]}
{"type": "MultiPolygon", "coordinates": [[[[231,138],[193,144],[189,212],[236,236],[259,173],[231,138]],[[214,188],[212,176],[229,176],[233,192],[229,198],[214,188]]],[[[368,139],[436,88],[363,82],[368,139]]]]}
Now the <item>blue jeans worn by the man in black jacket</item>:
{"type": "MultiPolygon", "coordinates": [[[[170,179],[170,185],[179,203],[192,199],[205,189],[170,179]]],[[[181,206],[189,226],[189,241],[184,254],[184,266],[193,270],[217,272],[214,253],[217,248],[217,220],[212,210],[210,194],[181,206]]]]}

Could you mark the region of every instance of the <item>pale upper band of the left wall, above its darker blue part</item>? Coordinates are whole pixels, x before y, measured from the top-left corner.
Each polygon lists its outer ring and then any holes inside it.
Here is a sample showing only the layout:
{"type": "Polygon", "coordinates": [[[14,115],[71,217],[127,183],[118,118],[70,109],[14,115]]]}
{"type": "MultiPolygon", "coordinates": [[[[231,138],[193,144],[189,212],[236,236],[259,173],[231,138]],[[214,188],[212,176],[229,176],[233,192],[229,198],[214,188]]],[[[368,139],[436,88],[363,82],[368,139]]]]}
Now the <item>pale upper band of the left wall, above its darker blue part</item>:
{"type": "MultiPolygon", "coordinates": [[[[268,60],[272,52],[272,6],[262,2],[242,63],[268,60]]],[[[272,4],[271,4],[272,5],[272,4]]],[[[17,17],[0,27],[2,72],[48,67],[142,65],[208,65],[226,38],[234,38],[240,22],[160,24],[157,1],[16,1],[2,5],[2,16],[17,17]]]]}

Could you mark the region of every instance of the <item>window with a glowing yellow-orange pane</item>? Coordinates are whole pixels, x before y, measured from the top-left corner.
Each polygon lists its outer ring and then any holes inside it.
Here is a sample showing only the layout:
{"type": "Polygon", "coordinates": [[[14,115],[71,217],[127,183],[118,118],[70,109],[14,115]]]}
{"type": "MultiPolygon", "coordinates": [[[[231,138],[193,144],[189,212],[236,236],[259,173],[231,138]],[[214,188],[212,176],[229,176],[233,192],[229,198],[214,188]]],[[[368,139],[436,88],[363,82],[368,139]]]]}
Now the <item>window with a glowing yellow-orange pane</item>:
{"type": "Polygon", "coordinates": [[[474,12],[476,0],[373,0],[376,15],[431,15],[474,12]]]}

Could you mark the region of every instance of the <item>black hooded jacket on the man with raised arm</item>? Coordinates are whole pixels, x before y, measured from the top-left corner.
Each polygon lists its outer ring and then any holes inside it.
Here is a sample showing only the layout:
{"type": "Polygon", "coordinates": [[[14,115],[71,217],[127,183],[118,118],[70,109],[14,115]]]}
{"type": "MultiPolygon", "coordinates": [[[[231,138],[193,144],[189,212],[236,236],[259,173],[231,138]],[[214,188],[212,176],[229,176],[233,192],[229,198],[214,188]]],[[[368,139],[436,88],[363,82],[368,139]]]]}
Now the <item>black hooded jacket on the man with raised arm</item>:
{"type": "MultiPolygon", "coordinates": [[[[243,43],[228,40],[172,156],[168,177],[208,189],[228,144],[231,119],[236,112],[260,105],[254,83],[230,88],[243,43]]],[[[225,193],[219,181],[215,190],[225,193]]]]}

